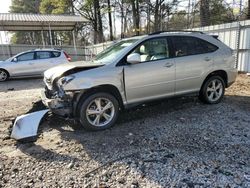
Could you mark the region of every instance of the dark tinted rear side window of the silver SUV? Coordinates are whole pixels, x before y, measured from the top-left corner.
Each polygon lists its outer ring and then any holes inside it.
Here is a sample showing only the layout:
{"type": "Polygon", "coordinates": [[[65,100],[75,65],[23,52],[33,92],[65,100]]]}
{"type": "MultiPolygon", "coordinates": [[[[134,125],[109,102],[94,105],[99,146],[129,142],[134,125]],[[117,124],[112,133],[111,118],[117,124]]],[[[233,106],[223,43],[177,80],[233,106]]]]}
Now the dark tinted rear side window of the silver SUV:
{"type": "Polygon", "coordinates": [[[195,37],[175,36],[172,39],[176,57],[210,53],[218,49],[213,44],[195,37]]]}

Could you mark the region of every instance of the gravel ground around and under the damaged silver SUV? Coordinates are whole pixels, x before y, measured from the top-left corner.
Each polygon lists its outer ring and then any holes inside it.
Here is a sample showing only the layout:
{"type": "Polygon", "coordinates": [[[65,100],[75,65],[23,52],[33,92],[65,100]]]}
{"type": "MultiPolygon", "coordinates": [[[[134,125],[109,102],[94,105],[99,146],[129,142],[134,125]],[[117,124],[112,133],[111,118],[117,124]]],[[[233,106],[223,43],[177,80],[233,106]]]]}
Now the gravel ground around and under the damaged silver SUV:
{"type": "Polygon", "coordinates": [[[250,77],[220,104],[164,100],[87,132],[48,115],[34,143],[9,138],[37,107],[41,79],[0,83],[0,187],[250,187],[250,77]]]}

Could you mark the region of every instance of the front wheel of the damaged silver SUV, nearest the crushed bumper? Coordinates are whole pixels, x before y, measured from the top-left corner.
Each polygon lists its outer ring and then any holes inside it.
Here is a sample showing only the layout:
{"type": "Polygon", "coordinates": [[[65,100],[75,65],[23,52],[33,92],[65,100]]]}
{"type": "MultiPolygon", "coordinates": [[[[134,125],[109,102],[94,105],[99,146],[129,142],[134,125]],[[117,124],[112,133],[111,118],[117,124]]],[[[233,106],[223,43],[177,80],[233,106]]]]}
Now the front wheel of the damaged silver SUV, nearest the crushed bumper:
{"type": "Polygon", "coordinates": [[[95,93],[84,98],[78,109],[81,125],[92,131],[112,127],[119,115],[119,103],[109,93],[95,93]]]}

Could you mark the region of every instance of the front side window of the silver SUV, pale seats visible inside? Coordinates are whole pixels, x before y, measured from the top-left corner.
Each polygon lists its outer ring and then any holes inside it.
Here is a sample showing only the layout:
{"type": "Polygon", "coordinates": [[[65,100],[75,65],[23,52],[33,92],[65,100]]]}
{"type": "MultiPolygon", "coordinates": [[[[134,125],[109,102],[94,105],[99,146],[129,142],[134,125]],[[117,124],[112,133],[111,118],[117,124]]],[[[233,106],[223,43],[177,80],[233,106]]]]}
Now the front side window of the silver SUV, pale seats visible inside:
{"type": "Polygon", "coordinates": [[[141,62],[155,61],[169,58],[169,48],[167,39],[150,39],[141,43],[132,53],[138,53],[141,62]]]}

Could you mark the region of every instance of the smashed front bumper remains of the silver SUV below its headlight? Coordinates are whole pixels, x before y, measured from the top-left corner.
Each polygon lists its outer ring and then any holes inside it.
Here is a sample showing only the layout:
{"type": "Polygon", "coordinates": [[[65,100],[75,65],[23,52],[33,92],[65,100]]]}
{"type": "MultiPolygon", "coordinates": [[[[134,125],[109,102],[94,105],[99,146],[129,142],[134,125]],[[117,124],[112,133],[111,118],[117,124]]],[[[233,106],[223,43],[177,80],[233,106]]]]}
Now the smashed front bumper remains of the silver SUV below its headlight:
{"type": "Polygon", "coordinates": [[[41,91],[43,104],[57,115],[70,117],[72,115],[73,93],[64,93],[61,97],[58,96],[57,92],[50,93],[51,91],[46,88],[41,91]]]}

